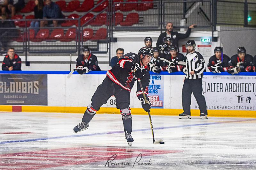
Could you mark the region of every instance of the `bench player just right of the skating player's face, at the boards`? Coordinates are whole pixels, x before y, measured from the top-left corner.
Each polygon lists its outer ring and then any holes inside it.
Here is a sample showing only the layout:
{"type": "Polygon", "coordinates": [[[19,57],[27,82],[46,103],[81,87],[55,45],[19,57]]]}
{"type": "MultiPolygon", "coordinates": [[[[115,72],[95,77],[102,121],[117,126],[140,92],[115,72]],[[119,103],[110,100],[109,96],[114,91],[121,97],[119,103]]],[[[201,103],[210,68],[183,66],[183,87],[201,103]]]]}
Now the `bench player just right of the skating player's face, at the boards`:
{"type": "Polygon", "coordinates": [[[154,73],[160,73],[163,71],[164,61],[160,60],[159,51],[156,47],[153,48],[154,58],[153,61],[148,63],[148,70],[154,73]]]}

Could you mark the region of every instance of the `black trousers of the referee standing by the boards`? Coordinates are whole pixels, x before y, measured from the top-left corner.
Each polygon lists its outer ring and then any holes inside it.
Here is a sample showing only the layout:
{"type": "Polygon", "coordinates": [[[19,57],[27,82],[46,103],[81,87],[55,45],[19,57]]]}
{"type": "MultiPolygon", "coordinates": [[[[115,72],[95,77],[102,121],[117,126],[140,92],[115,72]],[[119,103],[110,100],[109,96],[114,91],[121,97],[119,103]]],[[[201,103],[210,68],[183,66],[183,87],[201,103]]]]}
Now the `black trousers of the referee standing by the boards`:
{"type": "Polygon", "coordinates": [[[200,109],[200,113],[206,113],[206,102],[205,98],[202,95],[202,79],[185,79],[183,88],[182,88],[182,108],[184,110],[183,113],[187,115],[191,115],[190,113],[190,105],[191,105],[191,94],[194,94],[197,104],[200,109]]]}

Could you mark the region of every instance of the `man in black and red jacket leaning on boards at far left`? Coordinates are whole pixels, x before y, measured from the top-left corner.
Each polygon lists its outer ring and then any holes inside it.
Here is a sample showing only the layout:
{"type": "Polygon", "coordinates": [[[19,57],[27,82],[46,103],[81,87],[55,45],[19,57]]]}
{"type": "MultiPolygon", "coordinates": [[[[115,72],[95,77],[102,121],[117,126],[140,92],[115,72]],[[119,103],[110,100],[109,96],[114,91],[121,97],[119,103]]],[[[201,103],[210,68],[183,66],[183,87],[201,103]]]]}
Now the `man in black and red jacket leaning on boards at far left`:
{"type": "Polygon", "coordinates": [[[15,53],[14,48],[8,49],[7,55],[4,57],[2,63],[2,70],[21,70],[21,59],[19,55],[15,53]]]}

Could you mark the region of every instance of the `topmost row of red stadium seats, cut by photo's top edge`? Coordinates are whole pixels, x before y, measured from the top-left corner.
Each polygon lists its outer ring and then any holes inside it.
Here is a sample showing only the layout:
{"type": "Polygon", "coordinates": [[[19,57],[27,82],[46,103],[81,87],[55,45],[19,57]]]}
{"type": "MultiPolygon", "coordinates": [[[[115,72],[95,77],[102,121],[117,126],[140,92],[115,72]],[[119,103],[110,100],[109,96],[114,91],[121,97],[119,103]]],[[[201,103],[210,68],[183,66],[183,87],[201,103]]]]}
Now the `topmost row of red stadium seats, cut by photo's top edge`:
{"type": "MultiPolygon", "coordinates": [[[[108,0],[99,0],[97,4],[101,3],[104,1],[102,4],[100,4],[98,7],[96,7],[93,12],[100,12],[103,9],[107,8],[108,6],[108,0]]],[[[138,0],[127,0],[125,2],[137,2],[137,3],[122,3],[124,2],[123,0],[114,0],[113,3],[115,3],[115,11],[120,10],[120,11],[147,11],[148,9],[153,8],[153,3],[145,3],[147,1],[153,2],[153,0],[142,0],[144,3],[139,3],[138,0]]],[[[66,2],[64,0],[57,1],[56,4],[59,5],[61,11],[63,12],[86,12],[89,11],[94,7],[94,1],[93,0],[84,0],[83,4],[80,6],[80,1],[78,0],[73,0],[66,5],[66,2]]],[[[30,0],[26,6],[20,11],[21,13],[28,13],[34,11],[35,7],[35,1],[30,0]]]]}

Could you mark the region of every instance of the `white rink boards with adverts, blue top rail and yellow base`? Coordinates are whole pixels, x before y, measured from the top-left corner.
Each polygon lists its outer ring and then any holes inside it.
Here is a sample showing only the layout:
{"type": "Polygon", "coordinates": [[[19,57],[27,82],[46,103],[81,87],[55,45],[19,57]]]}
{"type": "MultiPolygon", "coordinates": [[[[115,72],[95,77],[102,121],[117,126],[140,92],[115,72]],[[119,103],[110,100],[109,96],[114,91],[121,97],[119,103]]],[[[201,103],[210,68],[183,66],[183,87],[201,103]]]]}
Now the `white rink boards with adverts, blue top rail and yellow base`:
{"type": "MultiPolygon", "coordinates": [[[[91,97],[106,77],[106,71],[94,71],[70,78],[69,71],[0,71],[0,111],[83,113],[91,97]]],[[[151,114],[177,115],[182,112],[182,72],[151,72],[149,99],[151,114]]],[[[132,114],[145,114],[136,97],[137,83],[130,93],[132,114]]],[[[109,89],[112,90],[112,89],[109,89]]],[[[205,72],[203,92],[209,115],[256,116],[256,74],[205,72]]],[[[198,105],[191,100],[192,115],[198,105]]],[[[97,113],[118,113],[112,96],[97,113]]]]}

